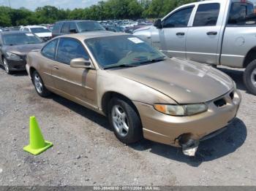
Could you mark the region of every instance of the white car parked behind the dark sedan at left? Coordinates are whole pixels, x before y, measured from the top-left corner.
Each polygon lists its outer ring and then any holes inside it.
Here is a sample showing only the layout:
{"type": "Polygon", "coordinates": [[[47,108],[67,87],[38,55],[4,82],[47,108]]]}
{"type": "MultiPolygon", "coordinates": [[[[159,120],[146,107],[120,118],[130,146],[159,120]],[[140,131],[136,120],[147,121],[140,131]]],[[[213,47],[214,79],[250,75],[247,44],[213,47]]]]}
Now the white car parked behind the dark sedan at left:
{"type": "Polygon", "coordinates": [[[23,26],[20,31],[31,32],[39,36],[40,39],[47,42],[52,38],[51,31],[45,26],[23,26]]]}

